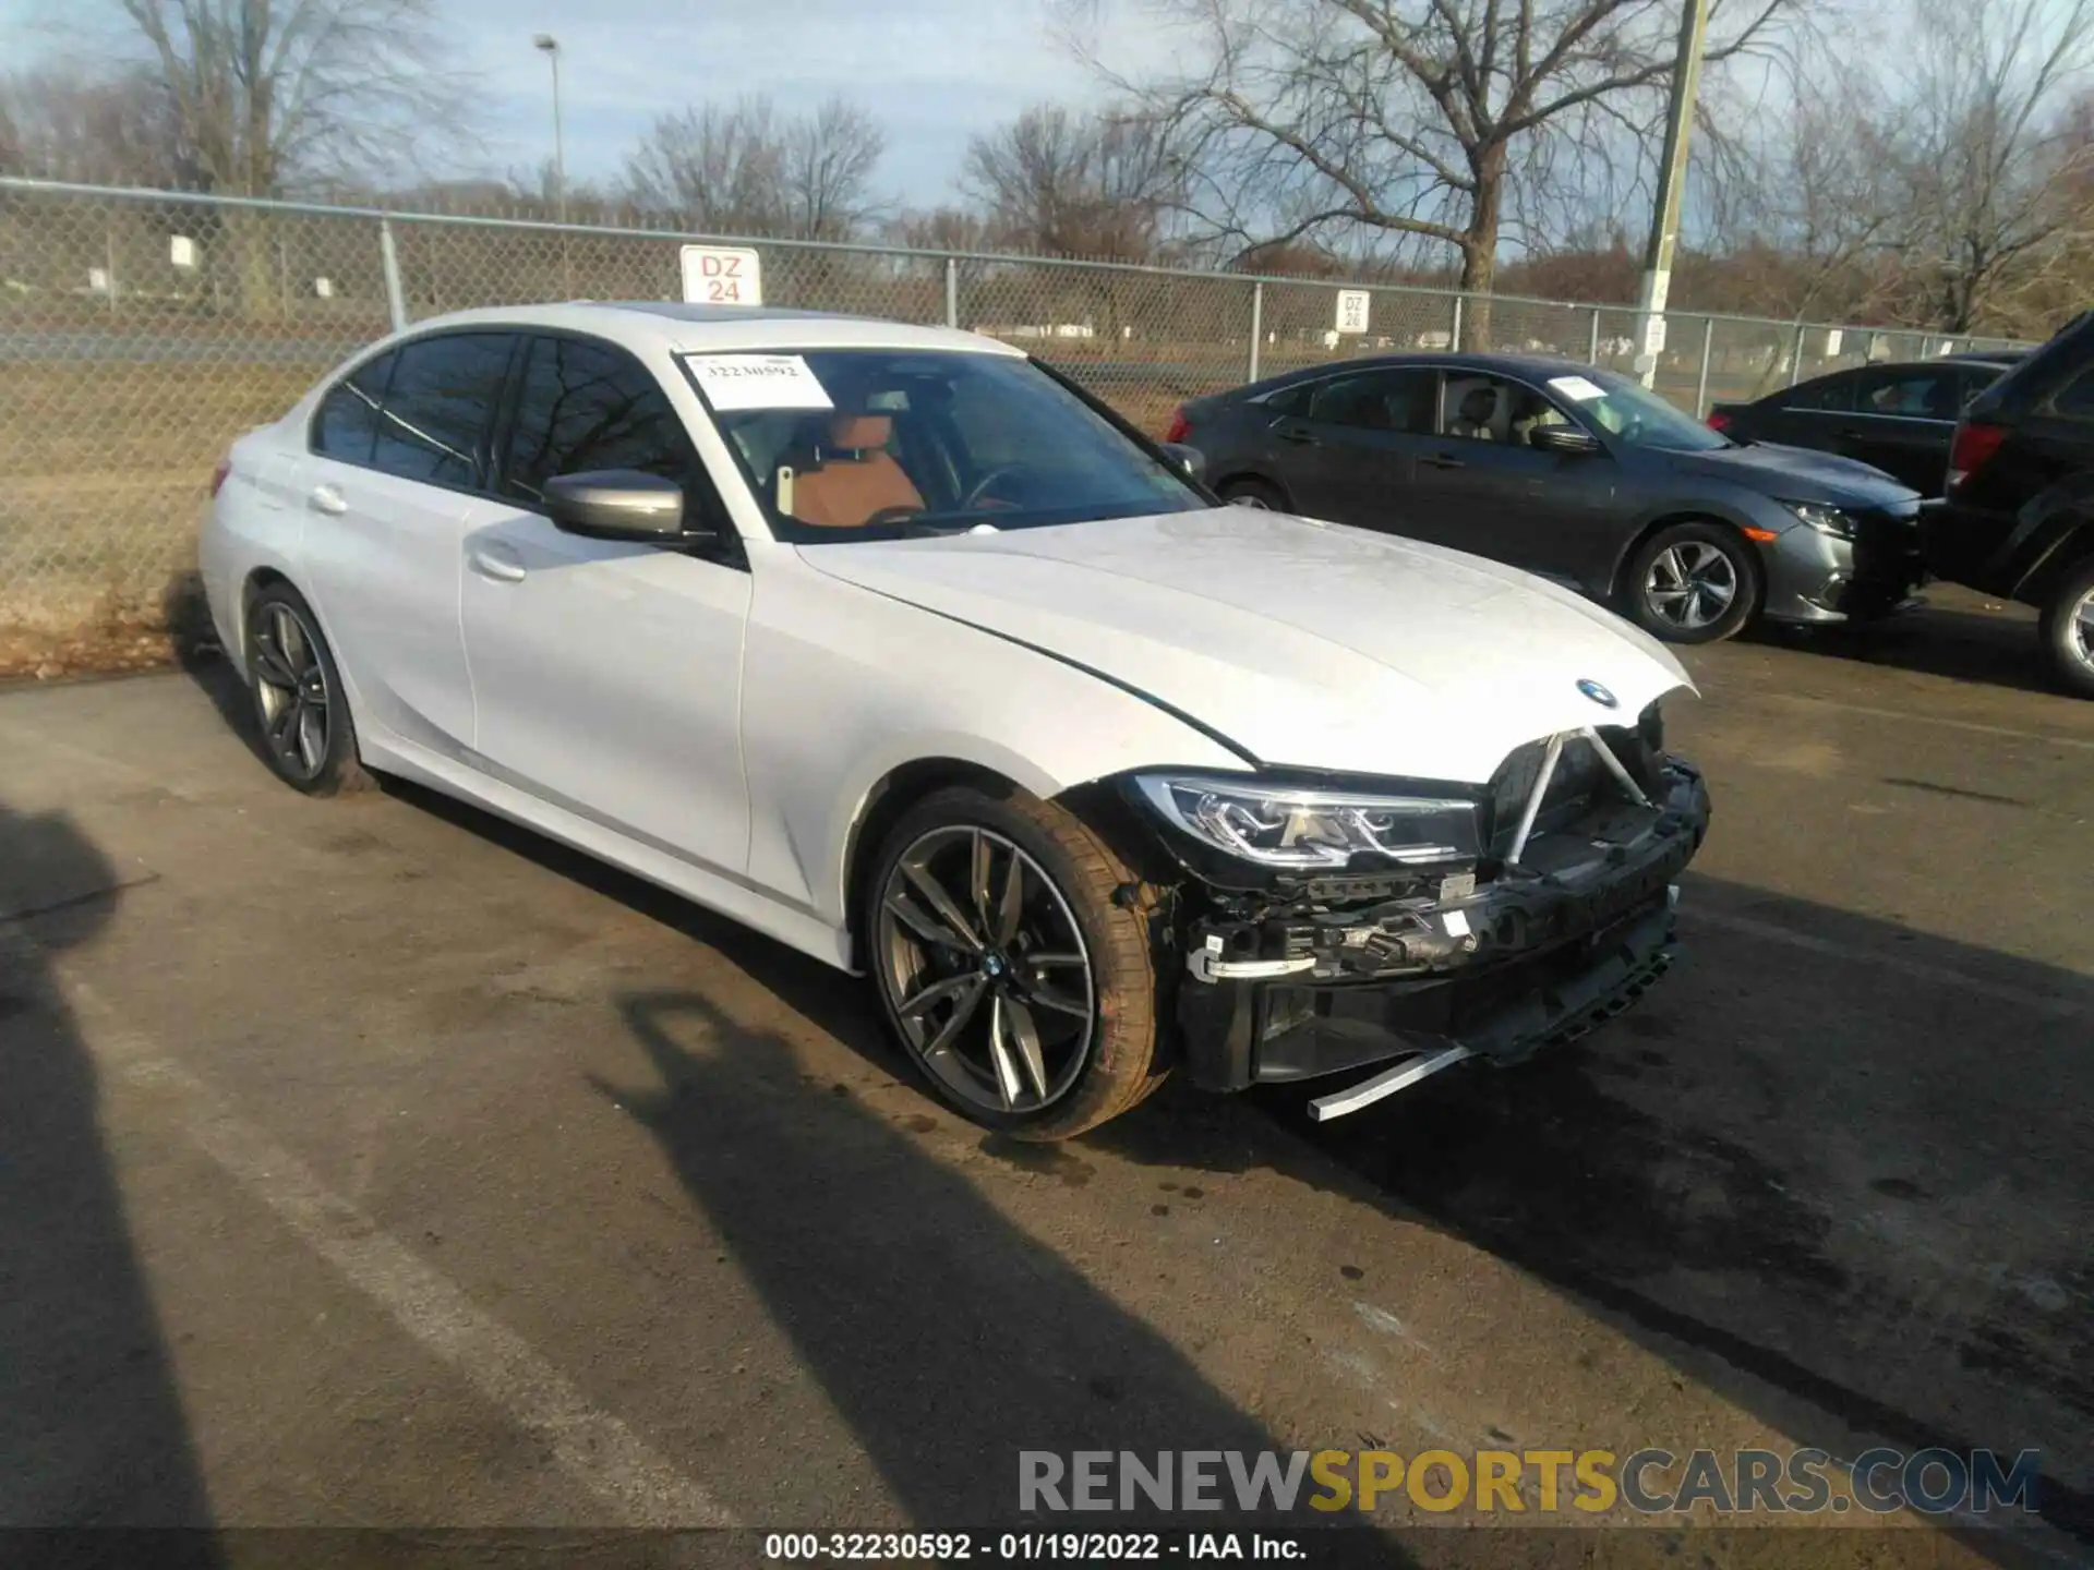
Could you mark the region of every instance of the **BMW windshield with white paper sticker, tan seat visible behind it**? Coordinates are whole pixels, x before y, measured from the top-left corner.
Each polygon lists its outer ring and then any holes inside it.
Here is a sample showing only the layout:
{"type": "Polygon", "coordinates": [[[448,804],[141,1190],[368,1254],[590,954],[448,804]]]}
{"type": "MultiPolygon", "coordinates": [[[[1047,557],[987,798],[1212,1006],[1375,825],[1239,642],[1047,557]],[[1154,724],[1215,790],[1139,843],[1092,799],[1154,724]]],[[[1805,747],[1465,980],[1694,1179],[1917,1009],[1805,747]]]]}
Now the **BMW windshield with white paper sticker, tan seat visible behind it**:
{"type": "Polygon", "coordinates": [[[894,540],[1208,507],[1016,356],[810,350],[683,362],[781,540],[894,540]]]}

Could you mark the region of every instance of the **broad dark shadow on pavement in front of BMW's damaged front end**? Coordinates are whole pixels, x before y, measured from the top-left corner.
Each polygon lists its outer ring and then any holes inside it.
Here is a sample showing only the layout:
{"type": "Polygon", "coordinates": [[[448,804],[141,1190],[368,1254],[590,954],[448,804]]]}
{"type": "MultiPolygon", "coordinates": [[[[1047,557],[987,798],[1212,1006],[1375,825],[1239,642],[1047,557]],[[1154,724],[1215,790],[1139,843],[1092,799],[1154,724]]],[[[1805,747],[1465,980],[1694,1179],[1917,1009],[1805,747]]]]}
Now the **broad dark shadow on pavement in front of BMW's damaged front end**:
{"type": "Polygon", "coordinates": [[[2037,1449],[2094,1543],[2094,982],[1717,879],[1681,917],[1661,986],[1527,1066],[1328,1124],[1256,1091],[1248,1139],[1166,1086],[1091,1139],[1462,1237],[1834,1455],[2037,1449]]]}

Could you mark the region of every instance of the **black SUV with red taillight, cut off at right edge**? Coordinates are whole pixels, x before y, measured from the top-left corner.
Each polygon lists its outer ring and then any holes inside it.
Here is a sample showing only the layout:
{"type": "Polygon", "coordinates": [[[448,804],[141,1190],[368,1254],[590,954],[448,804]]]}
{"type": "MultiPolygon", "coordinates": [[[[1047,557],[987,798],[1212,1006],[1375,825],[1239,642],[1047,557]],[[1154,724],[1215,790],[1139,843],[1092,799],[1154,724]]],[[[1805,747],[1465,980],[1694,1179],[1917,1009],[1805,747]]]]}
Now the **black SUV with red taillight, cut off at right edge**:
{"type": "Polygon", "coordinates": [[[2035,605],[2058,678],[2094,697],[2094,312],[1964,410],[1920,548],[1937,578],[2035,605]]]}

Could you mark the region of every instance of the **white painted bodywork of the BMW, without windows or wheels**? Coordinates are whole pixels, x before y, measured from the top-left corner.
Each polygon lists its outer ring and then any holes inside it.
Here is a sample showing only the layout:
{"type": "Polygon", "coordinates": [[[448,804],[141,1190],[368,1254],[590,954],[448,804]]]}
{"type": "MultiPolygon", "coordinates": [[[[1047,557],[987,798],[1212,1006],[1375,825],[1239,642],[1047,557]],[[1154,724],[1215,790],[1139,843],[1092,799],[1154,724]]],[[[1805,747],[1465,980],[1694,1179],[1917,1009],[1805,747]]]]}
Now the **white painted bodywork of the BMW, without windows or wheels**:
{"type": "Polygon", "coordinates": [[[473,324],[634,354],[712,473],[745,567],[314,456],[308,421],[337,371],[235,444],[205,517],[199,561],[228,655],[243,661],[255,574],[287,578],[335,653],[371,766],[836,965],[852,963],[854,829],[909,764],[970,764],[1041,798],[1135,768],[1258,762],[1480,783],[1524,741],[1633,722],[1686,685],[1661,645],[1527,574],[1275,513],[777,542],[676,364],[710,350],[1020,356],[967,333],[534,306],[421,322],[350,364],[473,324]]]}

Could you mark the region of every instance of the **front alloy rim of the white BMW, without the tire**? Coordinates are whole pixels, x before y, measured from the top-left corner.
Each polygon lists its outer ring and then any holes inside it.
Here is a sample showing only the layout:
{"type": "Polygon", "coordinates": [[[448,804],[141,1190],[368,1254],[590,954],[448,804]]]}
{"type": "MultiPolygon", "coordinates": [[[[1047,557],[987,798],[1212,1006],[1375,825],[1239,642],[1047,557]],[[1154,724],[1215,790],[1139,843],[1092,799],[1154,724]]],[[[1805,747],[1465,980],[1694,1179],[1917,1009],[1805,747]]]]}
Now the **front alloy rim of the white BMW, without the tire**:
{"type": "Polygon", "coordinates": [[[877,959],[903,1038],[963,1103],[1039,1112],[1083,1076],[1091,955],[1062,890],[1005,835],[949,825],[913,839],[879,894],[877,959]]]}

